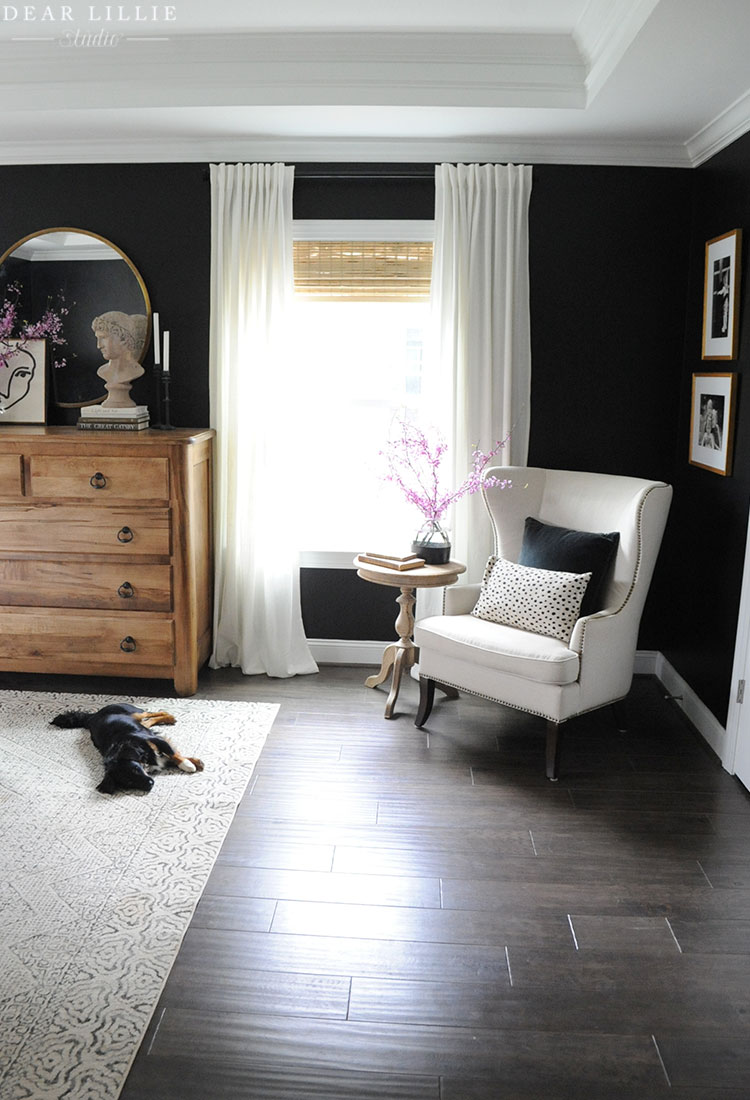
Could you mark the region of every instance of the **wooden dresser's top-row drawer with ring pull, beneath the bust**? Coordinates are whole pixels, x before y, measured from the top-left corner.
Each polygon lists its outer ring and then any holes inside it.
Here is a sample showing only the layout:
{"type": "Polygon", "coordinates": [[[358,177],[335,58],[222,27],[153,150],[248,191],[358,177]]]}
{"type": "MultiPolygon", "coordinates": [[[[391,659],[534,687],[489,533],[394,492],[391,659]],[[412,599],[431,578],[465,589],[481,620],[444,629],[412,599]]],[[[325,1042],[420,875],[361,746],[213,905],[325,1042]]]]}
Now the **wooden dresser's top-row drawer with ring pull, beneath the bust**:
{"type": "Polygon", "coordinates": [[[75,496],[106,504],[125,501],[168,501],[169,463],[156,458],[80,458],[32,454],[29,459],[29,495],[75,496]]]}

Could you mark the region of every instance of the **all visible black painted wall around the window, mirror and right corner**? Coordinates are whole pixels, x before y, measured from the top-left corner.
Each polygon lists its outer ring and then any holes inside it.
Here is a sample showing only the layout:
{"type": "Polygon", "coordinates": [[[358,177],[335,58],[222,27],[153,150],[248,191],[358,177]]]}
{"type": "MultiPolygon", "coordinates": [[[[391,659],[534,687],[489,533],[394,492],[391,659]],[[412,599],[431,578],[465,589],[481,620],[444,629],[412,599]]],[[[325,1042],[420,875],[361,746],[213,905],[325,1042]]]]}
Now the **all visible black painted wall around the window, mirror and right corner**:
{"type": "MultiPolygon", "coordinates": [[[[207,166],[0,167],[0,252],[35,230],[71,226],[130,256],[172,332],[174,421],[208,425],[207,166]]],[[[432,212],[431,166],[297,166],[296,217],[432,212]]],[[[706,370],[704,244],[737,227],[750,230],[750,139],[699,169],[534,166],[530,461],[674,484],[640,645],[663,650],[720,721],[750,491],[747,396],[740,393],[731,479],[690,466],[686,455],[691,375],[706,370]]],[[[750,277],[745,286],[747,318],[750,277]]],[[[745,373],[749,356],[750,326],[742,326],[731,369],[745,373]]],[[[310,636],[393,639],[393,593],[356,581],[304,571],[310,636]]]]}

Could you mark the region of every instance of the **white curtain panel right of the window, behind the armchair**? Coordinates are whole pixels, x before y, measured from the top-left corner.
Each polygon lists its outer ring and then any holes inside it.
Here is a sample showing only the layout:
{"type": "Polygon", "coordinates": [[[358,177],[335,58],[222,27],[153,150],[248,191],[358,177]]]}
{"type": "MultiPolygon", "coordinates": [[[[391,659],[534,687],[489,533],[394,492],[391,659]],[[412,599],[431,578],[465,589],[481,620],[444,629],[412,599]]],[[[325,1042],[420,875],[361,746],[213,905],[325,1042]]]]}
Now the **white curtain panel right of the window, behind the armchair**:
{"type": "MultiPolygon", "coordinates": [[[[432,306],[454,484],[476,444],[486,452],[509,436],[493,464],[527,461],[530,195],[527,165],[435,166],[432,306]]],[[[481,494],[459,502],[449,522],[452,557],[466,564],[466,580],[482,580],[492,532],[481,494]]]]}

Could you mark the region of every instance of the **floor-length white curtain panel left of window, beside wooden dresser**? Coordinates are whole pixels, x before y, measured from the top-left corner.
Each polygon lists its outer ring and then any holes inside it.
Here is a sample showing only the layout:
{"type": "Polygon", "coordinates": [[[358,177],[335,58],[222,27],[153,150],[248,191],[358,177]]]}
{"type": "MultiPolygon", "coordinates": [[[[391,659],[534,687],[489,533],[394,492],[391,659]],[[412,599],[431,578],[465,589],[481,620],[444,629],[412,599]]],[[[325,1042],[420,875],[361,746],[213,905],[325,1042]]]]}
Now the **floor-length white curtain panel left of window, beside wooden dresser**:
{"type": "Polygon", "coordinates": [[[299,602],[285,333],[294,168],[211,165],[211,426],[217,430],[211,666],[317,672],[299,602]]]}

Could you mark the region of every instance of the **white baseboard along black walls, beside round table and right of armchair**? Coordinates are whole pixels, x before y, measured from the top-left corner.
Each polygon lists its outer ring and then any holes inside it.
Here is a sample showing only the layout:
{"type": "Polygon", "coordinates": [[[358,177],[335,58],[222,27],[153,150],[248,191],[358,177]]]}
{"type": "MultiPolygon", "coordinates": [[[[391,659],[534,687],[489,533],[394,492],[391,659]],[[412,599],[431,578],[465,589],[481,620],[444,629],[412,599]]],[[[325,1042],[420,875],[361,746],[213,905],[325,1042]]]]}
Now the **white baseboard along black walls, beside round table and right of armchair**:
{"type": "MultiPolygon", "coordinates": [[[[387,641],[350,641],[335,638],[310,638],[308,644],[319,664],[375,666],[380,663],[383,650],[388,645],[387,641]]],[[[663,653],[655,649],[639,649],[636,653],[635,672],[638,675],[657,676],[663,684],[664,691],[684,711],[718,758],[724,760],[727,730],[663,653]]]]}

